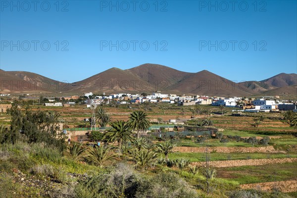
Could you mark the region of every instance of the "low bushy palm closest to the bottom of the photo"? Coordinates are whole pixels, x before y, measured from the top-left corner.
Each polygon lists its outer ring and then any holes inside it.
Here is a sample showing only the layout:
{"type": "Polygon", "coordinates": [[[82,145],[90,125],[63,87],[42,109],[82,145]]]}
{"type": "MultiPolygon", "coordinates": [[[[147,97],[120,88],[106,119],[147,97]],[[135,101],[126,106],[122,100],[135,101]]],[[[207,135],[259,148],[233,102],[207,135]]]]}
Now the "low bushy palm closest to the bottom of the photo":
{"type": "Polygon", "coordinates": [[[157,155],[149,150],[137,150],[133,153],[133,157],[136,161],[136,166],[144,170],[155,162],[157,155]]]}

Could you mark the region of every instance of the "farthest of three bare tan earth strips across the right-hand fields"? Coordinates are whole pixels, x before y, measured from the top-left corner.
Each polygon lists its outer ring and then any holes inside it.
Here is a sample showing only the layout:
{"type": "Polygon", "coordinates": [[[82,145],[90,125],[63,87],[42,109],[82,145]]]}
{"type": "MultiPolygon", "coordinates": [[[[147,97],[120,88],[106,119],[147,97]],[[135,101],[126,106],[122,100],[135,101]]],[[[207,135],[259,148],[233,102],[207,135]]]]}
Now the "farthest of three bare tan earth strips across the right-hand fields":
{"type": "MultiPolygon", "coordinates": [[[[205,152],[205,147],[175,147],[174,151],[179,152],[205,152]]],[[[283,150],[275,150],[272,146],[267,147],[208,147],[209,152],[270,152],[270,153],[286,153],[283,150]]]]}

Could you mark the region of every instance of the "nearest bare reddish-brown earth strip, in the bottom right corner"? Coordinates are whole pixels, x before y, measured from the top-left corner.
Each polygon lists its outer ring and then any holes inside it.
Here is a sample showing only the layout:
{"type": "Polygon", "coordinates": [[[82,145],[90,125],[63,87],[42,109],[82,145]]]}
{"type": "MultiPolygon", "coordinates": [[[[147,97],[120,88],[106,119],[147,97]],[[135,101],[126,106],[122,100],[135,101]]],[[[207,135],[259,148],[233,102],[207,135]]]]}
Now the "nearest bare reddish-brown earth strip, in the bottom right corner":
{"type": "Polygon", "coordinates": [[[240,187],[242,189],[261,189],[263,191],[272,191],[276,187],[283,193],[291,193],[297,192],[297,180],[243,184],[240,187]]]}

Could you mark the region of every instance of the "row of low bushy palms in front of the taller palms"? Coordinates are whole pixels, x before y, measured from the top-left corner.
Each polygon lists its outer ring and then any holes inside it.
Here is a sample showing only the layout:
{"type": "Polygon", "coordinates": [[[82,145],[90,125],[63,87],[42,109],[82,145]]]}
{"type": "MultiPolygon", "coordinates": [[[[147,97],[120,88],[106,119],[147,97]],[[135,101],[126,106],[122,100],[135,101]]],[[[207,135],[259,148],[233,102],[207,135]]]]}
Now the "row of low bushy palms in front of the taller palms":
{"type": "MultiPolygon", "coordinates": [[[[110,137],[110,131],[106,133],[106,137],[110,137]]],[[[113,140],[119,139],[122,139],[122,137],[117,136],[113,140]]],[[[114,147],[112,144],[104,144],[100,147],[87,147],[82,143],[74,142],[68,146],[66,155],[76,161],[86,161],[98,166],[102,166],[111,160],[123,158],[133,161],[137,168],[144,170],[148,167],[153,167],[157,163],[157,158],[160,154],[164,154],[165,159],[168,160],[168,154],[175,147],[170,142],[155,145],[144,138],[132,138],[131,134],[130,137],[126,136],[122,140],[118,147],[114,147]]]]}

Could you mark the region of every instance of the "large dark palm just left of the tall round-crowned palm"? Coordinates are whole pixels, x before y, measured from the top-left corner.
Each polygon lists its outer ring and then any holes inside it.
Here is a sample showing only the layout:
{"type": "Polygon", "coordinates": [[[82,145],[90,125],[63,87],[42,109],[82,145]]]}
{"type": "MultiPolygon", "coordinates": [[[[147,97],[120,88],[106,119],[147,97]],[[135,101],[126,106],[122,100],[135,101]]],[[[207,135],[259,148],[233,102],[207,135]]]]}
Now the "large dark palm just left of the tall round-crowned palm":
{"type": "Polygon", "coordinates": [[[130,125],[123,121],[117,120],[110,123],[111,129],[104,134],[104,139],[108,142],[118,142],[118,148],[121,149],[122,143],[131,140],[132,128],[130,125]]]}

